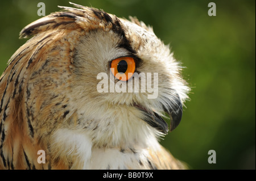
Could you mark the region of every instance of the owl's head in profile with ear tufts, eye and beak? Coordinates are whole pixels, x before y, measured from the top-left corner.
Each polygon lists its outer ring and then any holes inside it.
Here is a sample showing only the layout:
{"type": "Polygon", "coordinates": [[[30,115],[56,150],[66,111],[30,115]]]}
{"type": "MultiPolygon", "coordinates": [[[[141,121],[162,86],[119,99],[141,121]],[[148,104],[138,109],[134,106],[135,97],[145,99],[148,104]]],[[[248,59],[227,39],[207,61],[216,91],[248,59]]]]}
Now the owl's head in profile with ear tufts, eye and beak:
{"type": "Polygon", "coordinates": [[[31,39],[9,61],[31,136],[68,128],[99,147],[146,143],[168,133],[166,113],[174,130],[189,87],[170,48],[137,18],[73,5],[24,27],[31,39]]]}

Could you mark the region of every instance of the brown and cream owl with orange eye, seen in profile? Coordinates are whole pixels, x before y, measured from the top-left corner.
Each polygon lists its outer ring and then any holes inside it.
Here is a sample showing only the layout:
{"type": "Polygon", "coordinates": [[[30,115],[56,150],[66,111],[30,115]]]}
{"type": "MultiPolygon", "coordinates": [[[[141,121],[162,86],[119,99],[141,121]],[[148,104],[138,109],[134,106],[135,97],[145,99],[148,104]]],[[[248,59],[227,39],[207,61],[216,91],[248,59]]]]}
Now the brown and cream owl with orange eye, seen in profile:
{"type": "Polygon", "coordinates": [[[137,18],[71,4],[23,28],[0,78],[0,169],[184,169],[159,144],[181,63],[137,18]]]}

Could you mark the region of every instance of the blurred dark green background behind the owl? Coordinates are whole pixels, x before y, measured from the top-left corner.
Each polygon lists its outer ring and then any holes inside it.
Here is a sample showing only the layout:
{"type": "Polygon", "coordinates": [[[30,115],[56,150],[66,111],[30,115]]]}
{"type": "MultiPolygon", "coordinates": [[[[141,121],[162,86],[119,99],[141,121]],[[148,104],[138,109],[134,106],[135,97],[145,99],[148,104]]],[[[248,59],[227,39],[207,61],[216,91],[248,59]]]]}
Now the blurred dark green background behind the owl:
{"type": "MultiPolygon", "coordinates": [[[[0,72],[26,40],[24,26],[68,1],[1,2],[0,72]]],[[[76,1],[119,17],[137,16],[170,44],[192,87],[183,120],[161,143],[191,169],[255,169],[255,0],[246,1],[76,1]],[[208,16],[208,3],[217,16],[208,16]],[[208,151],[216,151],[216,164],[208,151]]]]}

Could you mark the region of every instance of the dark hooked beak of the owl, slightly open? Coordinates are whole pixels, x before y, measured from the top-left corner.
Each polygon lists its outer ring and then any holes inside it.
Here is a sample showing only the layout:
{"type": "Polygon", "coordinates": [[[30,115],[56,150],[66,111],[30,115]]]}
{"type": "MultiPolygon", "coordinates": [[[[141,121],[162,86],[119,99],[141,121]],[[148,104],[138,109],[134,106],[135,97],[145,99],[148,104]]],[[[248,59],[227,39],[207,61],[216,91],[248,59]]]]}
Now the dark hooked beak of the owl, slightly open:
{"type": "MultiPolygon", "coordinates": [[[[168,113],[171,119],[171,125],[170,125],[170,132],[173,131],[177,125],[180,124],[181,117],[182,117],[182,103],[180,100],[180,97],[178,94],[175,96],[175,100],[172,101],[170,105],[174,105],[169,108],[165,108],[164,111],[168,113]]],[[[161,116],[159,116],[157,113],[154,111],[148,111],[144,109],[141,106],[138,106],[135,104],[135,107],[139,108],[144,113],[143,120],[146,121],[151,127],[154,127],[158,129],[158,131],[167,134],[168,133],[168,124],[166,121],[163,120],[161,116]]]]}

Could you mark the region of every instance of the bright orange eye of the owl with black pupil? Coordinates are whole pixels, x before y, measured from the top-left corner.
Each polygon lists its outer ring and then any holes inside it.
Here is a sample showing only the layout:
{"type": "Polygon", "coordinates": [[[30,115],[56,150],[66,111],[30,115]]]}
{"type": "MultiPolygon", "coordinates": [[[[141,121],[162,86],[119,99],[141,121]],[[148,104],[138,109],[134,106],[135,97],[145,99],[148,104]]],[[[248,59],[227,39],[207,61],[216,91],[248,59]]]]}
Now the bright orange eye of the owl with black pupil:
{"type": "Polygon", "coordinates": [[[121,81],[127,81],[133,76],[135,71],[134,58],[117,58],[111,62],[110,68],[115,78],[121,81]]]}

